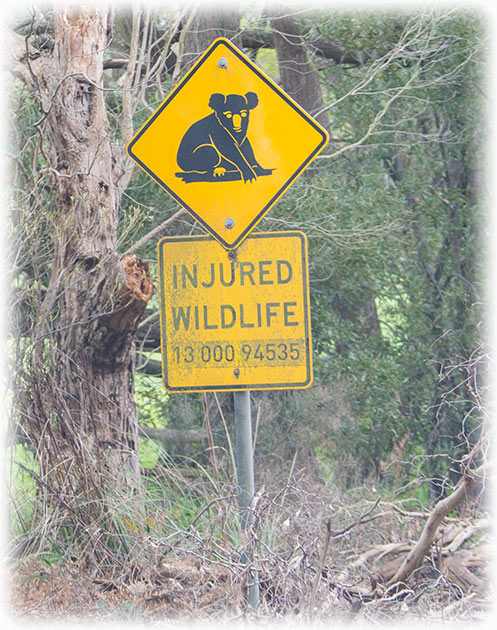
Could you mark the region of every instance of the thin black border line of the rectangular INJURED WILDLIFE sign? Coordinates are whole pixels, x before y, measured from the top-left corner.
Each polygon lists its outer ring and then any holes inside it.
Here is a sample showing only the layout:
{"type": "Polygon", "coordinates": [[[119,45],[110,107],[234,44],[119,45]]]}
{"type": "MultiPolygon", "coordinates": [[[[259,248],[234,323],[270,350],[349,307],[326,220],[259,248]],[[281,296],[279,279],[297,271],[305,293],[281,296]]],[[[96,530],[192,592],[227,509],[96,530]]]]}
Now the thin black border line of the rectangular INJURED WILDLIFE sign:
{"type": "MultiPolygon", "coordinates": [[[[305,331],[305,352],[306,352],[306,378],[300,383],[258,383],[252,385],[212,385],[201,387],[172,387],[167,382],[167,330],[166,330],[166,318],[165,313],[162,313],[163,305],[165,304],[164,286],[162,284],[162,277],[164,273],[164,246],[167,243],[184,242],[192,243],[198,241],[212,240],[211,236],[198,235],[198,236],[165,236],[157,243],[158,250],[158,262],[159,262],[159,310],[160,310],[160,331],[161,331],[161,356],[162,356],[162,384],[164,389],[170,393],[186,393],[186,392],[213,392],[213,391],[246,391],[246,390],[271,390],[271,389],[305,389],[312,385],[312,335],[311,335],[311,322],[310,322],[310,302],[309,302],[309,271],[308,271],[308,258],[307,258],[307,237],[303,232],[297,230],[289,230],[284,232],[256,232],[251,234],[249,238],[279,238],[282,236],[297,237],[300,239],[300,249],[302,254],[302,288],[304,294],[304,331],[305,331]]],[[[284,368],[281,368],[282,371],[284,368]]]]}

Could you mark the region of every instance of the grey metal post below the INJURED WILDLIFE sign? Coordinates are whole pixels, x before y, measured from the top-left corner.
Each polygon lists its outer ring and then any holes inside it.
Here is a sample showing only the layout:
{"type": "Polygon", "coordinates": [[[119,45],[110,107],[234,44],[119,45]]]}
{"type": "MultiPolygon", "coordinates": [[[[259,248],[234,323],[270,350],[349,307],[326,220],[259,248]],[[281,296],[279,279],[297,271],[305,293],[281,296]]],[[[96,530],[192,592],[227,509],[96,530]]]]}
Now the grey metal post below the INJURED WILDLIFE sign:
{"type": "MultiPolygon", "coordinates": [[[[250,532],[254,524],[254,461],[252,453],[252,420],[250,413],[250,392],[234,392],[235,402],[235,457],[238,480],[238,508],[242,533],[250,532]]],[[[247,567],[247,589],[249,606],[256,611],[259,604],[259,581],[254,559],[254,545],[248,537],[243,541],[245,549],[241,555],[242,564],[247,567]]]]}

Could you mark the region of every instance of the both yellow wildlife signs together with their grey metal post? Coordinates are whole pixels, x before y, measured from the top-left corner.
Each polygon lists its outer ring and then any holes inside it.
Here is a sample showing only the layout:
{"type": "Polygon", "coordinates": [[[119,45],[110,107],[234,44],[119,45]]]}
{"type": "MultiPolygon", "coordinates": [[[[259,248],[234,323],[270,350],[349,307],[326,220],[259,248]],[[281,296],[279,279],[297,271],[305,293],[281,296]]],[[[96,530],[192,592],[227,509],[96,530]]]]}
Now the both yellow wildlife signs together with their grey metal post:
{"type": "MultiPolygon", "coordinates": [[[[235,392],[242,532],[254,523],[250,390],[312,382],[306,238],[247,237],[327,142],[319,123],[219,38],[128,144],[217,241],[159,243],[162,373],[171,392],[235,392]]],[[[250,547],[242,562],[257,610],[250,547]]]]}

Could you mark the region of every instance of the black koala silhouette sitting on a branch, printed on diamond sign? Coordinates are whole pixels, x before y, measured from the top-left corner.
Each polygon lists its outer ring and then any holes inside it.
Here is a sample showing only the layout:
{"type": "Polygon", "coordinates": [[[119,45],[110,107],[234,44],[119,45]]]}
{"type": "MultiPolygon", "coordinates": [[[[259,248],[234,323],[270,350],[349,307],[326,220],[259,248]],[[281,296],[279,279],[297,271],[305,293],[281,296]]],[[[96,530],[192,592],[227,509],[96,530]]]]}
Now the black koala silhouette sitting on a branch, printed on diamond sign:
{"type": "Polygon", "coordinates": [[[176,173],[184,182],[252,182],[274,169],[262,168],[254,156],[247,129],[250,110],[259,99],[255,92],[211,94],[209,107],[214,110],[188,128],[176,160],[184,172],[176,173]]]}

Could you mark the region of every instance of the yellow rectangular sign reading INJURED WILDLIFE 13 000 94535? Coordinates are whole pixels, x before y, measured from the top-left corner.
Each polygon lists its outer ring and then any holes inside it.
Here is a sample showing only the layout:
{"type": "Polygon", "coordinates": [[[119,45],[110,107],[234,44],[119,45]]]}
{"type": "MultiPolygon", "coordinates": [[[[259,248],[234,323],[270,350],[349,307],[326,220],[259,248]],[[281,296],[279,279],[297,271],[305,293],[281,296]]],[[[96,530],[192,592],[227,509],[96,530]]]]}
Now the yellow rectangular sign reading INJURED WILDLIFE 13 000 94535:
{"type": "Polygon", "coordinates": [[[260,232],[228,251],[209,236],[158,244],[163,382],[171,392],[308,387],[307,240],[260,232]]]}

